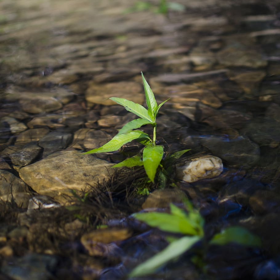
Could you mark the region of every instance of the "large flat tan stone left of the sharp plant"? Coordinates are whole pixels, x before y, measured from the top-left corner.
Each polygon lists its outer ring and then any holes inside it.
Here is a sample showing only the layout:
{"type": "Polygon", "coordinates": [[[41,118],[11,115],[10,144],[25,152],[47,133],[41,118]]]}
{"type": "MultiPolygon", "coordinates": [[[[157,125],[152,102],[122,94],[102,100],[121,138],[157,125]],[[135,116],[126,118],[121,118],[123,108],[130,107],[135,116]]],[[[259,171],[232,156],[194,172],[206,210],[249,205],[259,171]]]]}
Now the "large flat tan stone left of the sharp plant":
{"type": "Polygon", "coordinates": [[[82,191],[98,187],[110,180],[114,170],[105,160],[78,151],[60,151],[22,167],[19,176],[38,194],[65,202],[64,194],[73,198],[71,190],[82,191]]]}

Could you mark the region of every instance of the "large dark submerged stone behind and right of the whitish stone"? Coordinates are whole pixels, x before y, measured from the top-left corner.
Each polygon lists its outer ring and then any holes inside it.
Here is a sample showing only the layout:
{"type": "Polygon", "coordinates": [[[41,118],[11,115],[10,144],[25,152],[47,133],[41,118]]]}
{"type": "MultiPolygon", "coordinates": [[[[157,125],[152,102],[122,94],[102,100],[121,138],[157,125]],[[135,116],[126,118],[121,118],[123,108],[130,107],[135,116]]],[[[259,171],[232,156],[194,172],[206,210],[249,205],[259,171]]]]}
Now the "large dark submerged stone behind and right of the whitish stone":
{"type": "Polygon", "coordinates": [[[202,137],[200,142],[229,166],[249,168],[260,158],[258,144],[243,136],[231,140],[218,136],[202,137]]]}

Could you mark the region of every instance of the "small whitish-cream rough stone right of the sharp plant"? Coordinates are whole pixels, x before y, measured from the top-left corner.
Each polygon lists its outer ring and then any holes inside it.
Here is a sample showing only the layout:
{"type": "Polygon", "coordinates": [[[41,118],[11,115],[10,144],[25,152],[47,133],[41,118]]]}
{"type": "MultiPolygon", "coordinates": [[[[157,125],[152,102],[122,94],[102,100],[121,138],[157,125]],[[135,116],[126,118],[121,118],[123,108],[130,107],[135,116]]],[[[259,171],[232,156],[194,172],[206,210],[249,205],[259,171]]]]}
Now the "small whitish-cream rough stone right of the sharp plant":
{"type": "Polygon", "coordinates": [[[184,166],[176,169],[176,176],[181,180],[192,183],[201,179],[213,178],[223,171],[222,160],[212,155],[194,158],[184,166]]]}

